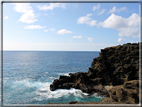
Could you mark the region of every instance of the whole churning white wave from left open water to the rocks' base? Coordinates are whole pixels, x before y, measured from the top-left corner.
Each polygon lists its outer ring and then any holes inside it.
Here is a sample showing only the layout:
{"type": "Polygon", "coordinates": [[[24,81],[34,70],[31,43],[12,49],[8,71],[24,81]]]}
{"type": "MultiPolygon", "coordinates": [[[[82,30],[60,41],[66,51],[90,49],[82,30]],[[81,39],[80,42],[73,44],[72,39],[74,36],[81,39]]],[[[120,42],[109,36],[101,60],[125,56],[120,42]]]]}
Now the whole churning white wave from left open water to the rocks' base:
{"type": "MultiPolygon", "coordinates": [[[[16,89],[26,89],[31,88],[32,95],[34,96],[34,100],[36,101],[44,101],[44,100],[59,100],[61,99],[70,99],[70,100],[77,100],[81,101],[81,99],[88,99],[88,98],[103,98],[99,96],[97,93],[95,94],[88,94],[82,92],[80,89],[57,89],[55,91],[50,90],[50,84],[51,82],[39,82],[39,81],[32,81],[30,79],[15,81],[14,84],[12,84],[13,88],[16,89]],[[35,88],[36,87],[36,88],[35,88]],[[33,89],[35,88],[35,89],[33,89]]],[[[29,89],[28,89],[29,90],[29,89]]],[[[23,91],[26,92],[26,91],[23,91]]],[[[85,100],[84,100],[85,101],[85,100]]]]}

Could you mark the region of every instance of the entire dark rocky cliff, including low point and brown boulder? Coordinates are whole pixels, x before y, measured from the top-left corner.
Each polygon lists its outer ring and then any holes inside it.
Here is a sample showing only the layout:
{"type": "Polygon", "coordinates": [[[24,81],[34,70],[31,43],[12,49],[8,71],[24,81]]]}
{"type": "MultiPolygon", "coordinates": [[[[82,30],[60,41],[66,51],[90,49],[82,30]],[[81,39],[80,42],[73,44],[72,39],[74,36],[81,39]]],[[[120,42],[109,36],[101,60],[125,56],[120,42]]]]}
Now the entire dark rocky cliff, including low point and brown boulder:
{"type": "Polygon", "coordinates": [[[138,103],[139,43],[102,49],[100,56],[93,59],[88,72],[69,75],[55,79],[50,85],[50,90],[76,88],[87,93],[110,96],[110,101],[114,102],[138,103]],[[105,86],[114,88],[108,90],[105,86]],[[131,101],[126,101],[124,95],[131,101]]]}

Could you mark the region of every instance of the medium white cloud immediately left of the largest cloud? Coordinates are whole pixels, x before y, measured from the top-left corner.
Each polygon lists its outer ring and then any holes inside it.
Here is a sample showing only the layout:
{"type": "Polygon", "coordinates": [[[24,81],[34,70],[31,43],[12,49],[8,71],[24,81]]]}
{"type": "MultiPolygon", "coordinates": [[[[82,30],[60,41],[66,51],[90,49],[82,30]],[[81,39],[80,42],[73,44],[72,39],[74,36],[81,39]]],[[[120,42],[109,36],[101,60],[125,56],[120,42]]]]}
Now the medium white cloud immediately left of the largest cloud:
{"type": "Polygon", "coordinates": [[[90,16],[92,16],[91,13],[90,13],[90,14],[87,14],[86,16],[82,16],[82,17],[78,18],[77,23],[78,23],[78,24],[87,24],[87,25],[89,25],[89,26],[97,25],[97,24],[96,24],[97,21],[96,21],[96,20],[92,20],[92,19],[90,18],[90,16]]]}

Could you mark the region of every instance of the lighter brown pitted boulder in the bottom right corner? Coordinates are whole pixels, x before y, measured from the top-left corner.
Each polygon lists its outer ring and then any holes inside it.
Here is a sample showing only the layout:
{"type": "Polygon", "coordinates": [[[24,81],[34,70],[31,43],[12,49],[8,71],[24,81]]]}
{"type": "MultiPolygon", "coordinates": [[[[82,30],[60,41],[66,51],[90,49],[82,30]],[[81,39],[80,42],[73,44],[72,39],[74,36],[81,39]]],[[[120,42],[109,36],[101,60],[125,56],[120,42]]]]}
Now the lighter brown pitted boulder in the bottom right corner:
{"type": "Polygon", "coordinates": [[[139,80],[127,81],[123,85],[115,86],[109,94],[111,99],[119,103],[139,103],[139,80]]]}

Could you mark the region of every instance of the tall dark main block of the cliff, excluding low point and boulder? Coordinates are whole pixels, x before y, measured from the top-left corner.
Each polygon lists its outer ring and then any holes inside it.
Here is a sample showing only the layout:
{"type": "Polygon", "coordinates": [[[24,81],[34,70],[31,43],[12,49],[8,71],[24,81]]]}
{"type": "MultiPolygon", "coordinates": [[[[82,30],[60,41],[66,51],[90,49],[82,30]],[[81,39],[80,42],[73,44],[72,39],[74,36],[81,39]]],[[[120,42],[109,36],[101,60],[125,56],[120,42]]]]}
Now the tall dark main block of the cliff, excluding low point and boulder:
{"type": "Polygon", "coordinates": [[[99,84],[121,85],[139,79],[139,44],[124,44],[101,50],[91,64],[88,74],[102,78],[99,84]]]}

